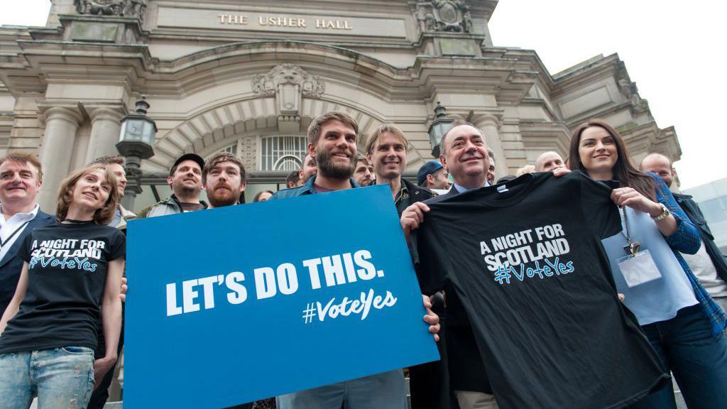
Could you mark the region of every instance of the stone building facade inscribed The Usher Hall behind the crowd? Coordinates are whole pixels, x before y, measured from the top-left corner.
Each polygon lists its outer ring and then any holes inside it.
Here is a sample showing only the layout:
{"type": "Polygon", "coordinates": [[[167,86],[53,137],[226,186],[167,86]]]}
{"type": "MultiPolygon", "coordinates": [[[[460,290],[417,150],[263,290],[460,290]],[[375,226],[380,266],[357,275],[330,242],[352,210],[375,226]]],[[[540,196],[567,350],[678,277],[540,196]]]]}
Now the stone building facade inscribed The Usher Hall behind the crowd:
{"type": "Polygon", "coordinates": [[[310,119],[350,112],[362,139],[384,122],[409,142],[408,171],[431,159],[437,101],[479,127],[497,177],[601,117],[637,159],[677,160],[618,55],[550,74],[536,52],[493,44],[496,0],[52,0],[44,27],[0,28],[0,154],[35,152],[41,207],[70,170],[115,154],[119,120],[146,95],[156,121],[138,209],[164,196],[184,152],[226,150],[252,173],[250,194],[282,183],[310,119]],[[156,171],[156,177],[153,172],[156,171]],[[164,190],[166,189],[166,191],[164,190]]]}

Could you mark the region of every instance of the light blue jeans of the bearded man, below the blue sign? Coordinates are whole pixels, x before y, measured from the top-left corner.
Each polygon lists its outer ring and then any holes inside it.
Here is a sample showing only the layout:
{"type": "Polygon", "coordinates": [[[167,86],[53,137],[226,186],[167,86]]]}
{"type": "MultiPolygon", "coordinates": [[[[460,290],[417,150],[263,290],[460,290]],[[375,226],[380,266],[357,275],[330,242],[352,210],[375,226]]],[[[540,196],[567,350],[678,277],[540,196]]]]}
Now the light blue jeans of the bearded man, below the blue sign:
{"type": "Polygon", "coordinates": [[[321,386],[277,398],[278,409],[405,409],[401,369],[321,386]]]}

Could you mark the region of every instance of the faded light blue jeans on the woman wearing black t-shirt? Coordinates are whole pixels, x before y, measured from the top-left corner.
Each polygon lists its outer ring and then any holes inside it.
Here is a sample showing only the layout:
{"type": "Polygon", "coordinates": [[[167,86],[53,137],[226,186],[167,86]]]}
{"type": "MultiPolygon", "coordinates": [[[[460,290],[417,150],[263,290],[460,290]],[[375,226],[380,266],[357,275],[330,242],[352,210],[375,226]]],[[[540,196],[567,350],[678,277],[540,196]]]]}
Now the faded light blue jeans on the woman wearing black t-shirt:
{"type": "Polygon", "coordinates": [[[3,409],[84,409],[93,391],[93,350],[80,346],[0,354],[3,409]]]}

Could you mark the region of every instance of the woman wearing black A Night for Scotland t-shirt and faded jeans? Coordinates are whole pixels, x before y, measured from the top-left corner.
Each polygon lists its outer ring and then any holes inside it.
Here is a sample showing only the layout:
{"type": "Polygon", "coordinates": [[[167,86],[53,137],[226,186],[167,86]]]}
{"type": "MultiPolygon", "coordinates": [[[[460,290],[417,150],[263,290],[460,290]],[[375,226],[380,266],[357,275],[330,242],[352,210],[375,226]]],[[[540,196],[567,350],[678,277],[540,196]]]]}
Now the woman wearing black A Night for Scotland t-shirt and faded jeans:
{"type": "Polygon", "coordinates": [[[60,223],[34,229],[18,250],[23,271],[0,319],[2,408],[27,409],[33,395],[39,409],[86,408],[116,362],[126,242],[106,223],[118,202],[105,167],[74,172],[60,186],[60,223]],[[99,314],[106,356],[94,362],[99,314]]]}

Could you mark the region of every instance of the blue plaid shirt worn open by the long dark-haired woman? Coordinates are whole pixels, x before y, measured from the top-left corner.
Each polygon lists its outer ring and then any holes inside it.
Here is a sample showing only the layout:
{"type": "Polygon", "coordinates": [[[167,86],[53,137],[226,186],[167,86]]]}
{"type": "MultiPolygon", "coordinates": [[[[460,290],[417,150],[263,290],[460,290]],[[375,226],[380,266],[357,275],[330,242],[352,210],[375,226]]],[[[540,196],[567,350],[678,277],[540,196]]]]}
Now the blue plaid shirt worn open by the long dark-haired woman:
{"type": "Polygon", "coordinates": [[[687,215],[674,199],[674,196],[672,196],[672,192],[669,191],[664,180],[659,178],[656,173],[648,172],[648,175],[654,178],[654,182],[656,183],[656,200],[659,203],[664,204],[672,215],[674,215],[674,218],[677,221],[677,231],[670,237],[665,237],[664,239],[666,239],[669,247],[672,248],[672,251],[681,264],[682,269],[684,269],[686,277],[689,278],[691,287],[694,289],[694,296],[697,301],[699,301],[699,305],[702,306],[702,311],[704,311],[704,314],[710,319],[710,323],[712,324],[712,333],[714,335],[719,335],[720,333],[723,333],[727,327],[727,314],[725,314],[725,312],[720,309],[720,306],[712,300],[712,297],[710,297],[707,293],[707,290],[704,290],[704,287],[699,284],[699,280],[694,277],[694,273],[691,272],[686,261],[684,261],[684,258],[679,254],[679,252],[694,254],[699,250],[699,246],[702,245],[702,239],[700,239],[699,236],[699,229],[691,223],[687,215]]]}

